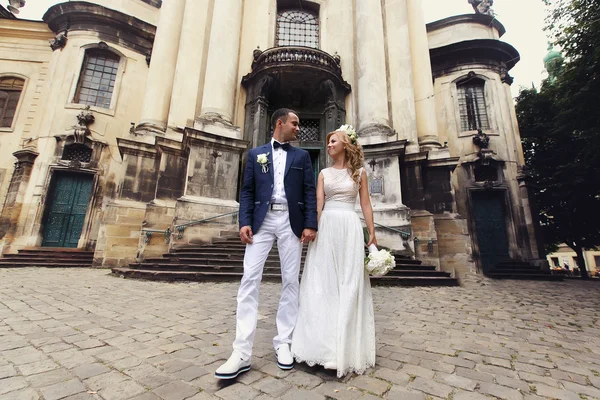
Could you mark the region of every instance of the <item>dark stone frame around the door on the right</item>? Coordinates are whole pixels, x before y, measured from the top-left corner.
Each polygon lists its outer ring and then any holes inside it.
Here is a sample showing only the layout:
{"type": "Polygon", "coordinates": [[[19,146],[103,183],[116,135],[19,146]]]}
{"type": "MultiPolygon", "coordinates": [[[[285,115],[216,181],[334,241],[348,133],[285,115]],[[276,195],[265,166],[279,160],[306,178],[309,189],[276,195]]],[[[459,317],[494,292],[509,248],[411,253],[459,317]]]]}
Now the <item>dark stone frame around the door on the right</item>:
{"type": "Polygon", "coordinates": [[[514,216],[512,213],[512,205],[510,201],[510,191],[507,187],[494,187],[494,188],[477,188],[471,187],[467,188],[467,207],[469,210],[468,213],[468,226],[469,231],[471,232],[471,246],[473,248],[473,261],[477,267],[477,272],[483,273],[483,265],[481,262],[481,256],[479,251],[479,241],[477,239],[477,227],[475,225],[474,218],[474,203],[473,193],[481,193],[481,192],[495,192],[499,197],[504,199],[504,221],[506,224],[506,236],[508,240],[508,256],[511,259],[516,259],[516,255],[518,254],[518,249],[516,248],[517,243],[517,233],[515,232],[515,222],[514,216]]]}

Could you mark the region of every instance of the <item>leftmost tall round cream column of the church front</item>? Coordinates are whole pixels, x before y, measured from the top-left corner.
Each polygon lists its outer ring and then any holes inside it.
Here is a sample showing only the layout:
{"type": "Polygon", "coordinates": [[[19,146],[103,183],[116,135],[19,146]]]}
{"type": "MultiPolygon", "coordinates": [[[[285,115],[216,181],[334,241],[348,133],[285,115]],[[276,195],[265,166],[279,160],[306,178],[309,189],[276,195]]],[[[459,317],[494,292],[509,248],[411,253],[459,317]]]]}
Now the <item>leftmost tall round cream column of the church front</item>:
{"type": "Polygon", "coordinates": [[[167,127],[184,9],[185,0],[165,1],[160,9],[139,128],[167,127]]]}

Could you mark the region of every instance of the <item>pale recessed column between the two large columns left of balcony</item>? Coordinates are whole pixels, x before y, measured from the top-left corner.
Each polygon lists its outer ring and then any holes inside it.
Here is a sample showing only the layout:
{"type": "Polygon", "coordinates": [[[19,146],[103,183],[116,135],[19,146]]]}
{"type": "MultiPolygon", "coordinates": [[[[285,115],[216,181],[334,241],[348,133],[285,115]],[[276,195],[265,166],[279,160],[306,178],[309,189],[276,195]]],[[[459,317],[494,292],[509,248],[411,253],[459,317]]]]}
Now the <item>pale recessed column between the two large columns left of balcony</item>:
{"type": "Polygon", "coordinates": [[[193,121],[196,117],[202,69],[208,51],[205,36],[210,0],[185,2],[179,55],[169,107],[169,126],[172,127],[184,127],[188,119],[193,121]]]}

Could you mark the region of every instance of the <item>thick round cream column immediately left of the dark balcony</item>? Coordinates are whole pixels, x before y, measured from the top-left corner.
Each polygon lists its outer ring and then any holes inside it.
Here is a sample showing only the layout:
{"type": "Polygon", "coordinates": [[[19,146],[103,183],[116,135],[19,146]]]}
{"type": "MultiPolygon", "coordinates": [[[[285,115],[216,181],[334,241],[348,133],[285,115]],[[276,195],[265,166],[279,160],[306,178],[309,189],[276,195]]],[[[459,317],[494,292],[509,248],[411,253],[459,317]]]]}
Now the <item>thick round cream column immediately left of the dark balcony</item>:
{"type": "Polygon", "coordinates": [[[238,88],[242,0],[215,1],[200,117],[231,123],[238,88]]]}

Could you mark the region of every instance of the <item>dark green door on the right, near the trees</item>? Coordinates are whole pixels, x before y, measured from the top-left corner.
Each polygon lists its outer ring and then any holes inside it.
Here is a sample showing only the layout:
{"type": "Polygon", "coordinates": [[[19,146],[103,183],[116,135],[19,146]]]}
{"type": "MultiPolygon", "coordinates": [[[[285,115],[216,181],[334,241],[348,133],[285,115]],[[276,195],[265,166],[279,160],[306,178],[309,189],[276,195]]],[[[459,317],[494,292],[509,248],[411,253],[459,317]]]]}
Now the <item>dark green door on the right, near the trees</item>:
{"type": "Polygon", "coordinates": [[[498,262],[509,259],[504,194],[474,192],[472,200],[481,267],[488,273],[498,262]]]}

